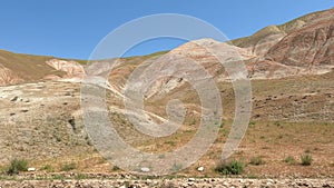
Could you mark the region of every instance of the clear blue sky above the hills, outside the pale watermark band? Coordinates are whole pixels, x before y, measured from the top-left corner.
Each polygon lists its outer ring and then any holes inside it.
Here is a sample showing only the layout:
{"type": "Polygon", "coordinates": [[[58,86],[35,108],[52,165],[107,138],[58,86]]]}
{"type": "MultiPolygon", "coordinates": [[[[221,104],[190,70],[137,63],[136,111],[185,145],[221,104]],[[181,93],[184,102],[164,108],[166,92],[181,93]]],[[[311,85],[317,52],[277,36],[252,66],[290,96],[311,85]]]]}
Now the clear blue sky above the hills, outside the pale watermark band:
{"type": "MultiPolygon", "coordinates": [[[[2,0],[0,49],[88,59],[109,32],[145,16],[196,17],[218,28],[228,39],[236,39],[333,7],[333,0],[2,0]]],[[[124,56],[169,50],[183,42],[167,38],[150,40],[124,56]]]]}

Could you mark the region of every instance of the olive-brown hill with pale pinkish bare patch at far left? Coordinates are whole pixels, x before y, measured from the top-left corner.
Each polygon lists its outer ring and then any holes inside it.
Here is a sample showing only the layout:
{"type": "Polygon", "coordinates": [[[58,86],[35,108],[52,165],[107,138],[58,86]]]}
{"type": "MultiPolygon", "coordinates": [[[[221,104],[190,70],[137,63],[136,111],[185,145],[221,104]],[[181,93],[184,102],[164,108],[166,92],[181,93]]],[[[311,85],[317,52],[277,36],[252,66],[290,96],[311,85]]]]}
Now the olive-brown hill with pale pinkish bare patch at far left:
{"type": "Polygon", "coordinates": [[[82,73],[78,61],[0,50],[0,86],[80,78],[82,73]]]}

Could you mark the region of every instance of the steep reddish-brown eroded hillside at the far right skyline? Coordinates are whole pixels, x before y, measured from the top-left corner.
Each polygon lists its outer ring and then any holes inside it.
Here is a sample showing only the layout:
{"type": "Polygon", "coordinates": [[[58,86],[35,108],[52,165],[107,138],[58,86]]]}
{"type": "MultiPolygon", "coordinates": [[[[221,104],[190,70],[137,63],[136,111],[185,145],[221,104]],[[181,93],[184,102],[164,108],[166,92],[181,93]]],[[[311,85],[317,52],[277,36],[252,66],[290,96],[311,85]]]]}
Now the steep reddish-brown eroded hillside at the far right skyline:
{"type": "Polygon", "coordinates": [[[334,9],[323,12],[308,24],[287,34],[268,50],[265,58],[305,68],[310,73],[314,69],[334,67],[333,14],[334,9]]]}

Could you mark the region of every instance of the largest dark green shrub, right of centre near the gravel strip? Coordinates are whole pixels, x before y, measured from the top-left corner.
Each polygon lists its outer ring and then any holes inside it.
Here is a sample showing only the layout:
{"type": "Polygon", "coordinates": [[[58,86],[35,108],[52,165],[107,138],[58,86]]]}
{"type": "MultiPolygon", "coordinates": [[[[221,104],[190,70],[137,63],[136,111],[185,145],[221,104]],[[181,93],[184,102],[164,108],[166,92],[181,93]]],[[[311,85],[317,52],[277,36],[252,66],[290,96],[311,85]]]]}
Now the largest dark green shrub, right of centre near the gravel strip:
{"type": "Polygon", "coordinates": [[[222,161],[217,165],[215,170],[223,175],[240,175],[244,171],[244,164],[237,160],[229,162],[222,161]]]}

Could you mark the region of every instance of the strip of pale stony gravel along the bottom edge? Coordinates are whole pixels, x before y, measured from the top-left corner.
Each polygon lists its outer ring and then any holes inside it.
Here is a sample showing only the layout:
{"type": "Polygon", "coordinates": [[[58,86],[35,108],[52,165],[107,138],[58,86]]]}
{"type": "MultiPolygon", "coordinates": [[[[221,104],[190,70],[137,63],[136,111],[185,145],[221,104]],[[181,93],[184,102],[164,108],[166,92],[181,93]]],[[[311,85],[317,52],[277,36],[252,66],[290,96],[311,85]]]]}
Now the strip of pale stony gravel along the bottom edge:
{"type": "Polygon", "coordinates": [[[0,181],[1,188],[287,188],[287,187],[312,187],[312,188],[334,188],[334,179],[239,179],[239,178],[204,178],[204,179],[147,179],[147,180],[22,180],[22,181],[0,181]]]}

